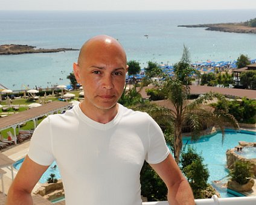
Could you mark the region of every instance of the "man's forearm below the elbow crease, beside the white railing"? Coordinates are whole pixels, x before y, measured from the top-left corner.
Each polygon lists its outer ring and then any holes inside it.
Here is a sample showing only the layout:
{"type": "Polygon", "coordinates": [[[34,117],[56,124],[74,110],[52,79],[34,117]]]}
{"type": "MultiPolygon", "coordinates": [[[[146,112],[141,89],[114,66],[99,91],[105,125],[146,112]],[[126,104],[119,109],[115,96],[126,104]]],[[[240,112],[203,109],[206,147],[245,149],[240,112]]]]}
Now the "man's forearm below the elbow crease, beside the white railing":
{"type": "Polygon", "coordinates": [[[171,205],[194,205],[193,192],[187,180],[176,183],[168,190],[168,202],[171,205]]]}

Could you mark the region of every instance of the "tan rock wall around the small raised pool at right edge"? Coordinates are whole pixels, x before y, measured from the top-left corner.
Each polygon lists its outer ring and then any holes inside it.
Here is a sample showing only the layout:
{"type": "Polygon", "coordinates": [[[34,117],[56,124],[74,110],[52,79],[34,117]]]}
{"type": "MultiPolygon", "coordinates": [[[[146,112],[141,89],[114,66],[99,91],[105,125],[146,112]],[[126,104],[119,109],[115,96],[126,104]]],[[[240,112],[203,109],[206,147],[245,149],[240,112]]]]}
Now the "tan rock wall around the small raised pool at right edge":
{"type": "MultiPolygon", "coordinates": [[[[238,147],[256,147],[256,142],[239,142],[238,147]]],[[[240,156],[235,151],[237,150],[237,147],[232,148],[228,151],[226,151],[226,163],[228,166],[228,169],[233,169],[235,166],[235,162],[241,161],[241,162],[249,162],[251,163],[251,171],[256,177],[256,159],[246,159],[243,156],[240,156]]]]}

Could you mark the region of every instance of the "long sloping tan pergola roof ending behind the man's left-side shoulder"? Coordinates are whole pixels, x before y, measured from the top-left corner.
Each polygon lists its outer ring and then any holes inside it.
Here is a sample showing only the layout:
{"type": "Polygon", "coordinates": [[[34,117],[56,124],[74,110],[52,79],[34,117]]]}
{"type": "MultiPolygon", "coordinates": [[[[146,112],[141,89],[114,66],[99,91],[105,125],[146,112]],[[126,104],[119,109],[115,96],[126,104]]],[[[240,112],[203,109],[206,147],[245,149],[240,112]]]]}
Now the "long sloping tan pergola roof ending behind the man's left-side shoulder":
{"type": "Polygon", "coordinates": [[[35,118],[40,118],[41,116],[48,115],[49,113],[56,112],[57,110],[65,109],[69,106],[71,106],[71,104],[68,102],[53,101],[39,107],[34,107],[33,109],[25,110],[24,112],[0,118],[0,130],[22,124],[35,118]]]}

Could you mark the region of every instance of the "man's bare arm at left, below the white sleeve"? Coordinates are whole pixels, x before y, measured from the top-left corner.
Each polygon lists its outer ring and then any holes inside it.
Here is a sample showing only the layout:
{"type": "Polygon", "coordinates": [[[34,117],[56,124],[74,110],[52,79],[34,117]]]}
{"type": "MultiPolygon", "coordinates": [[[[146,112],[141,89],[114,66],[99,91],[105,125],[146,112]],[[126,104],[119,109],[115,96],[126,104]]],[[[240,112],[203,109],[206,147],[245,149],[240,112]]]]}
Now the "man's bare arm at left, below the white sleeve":
{"type": "Polygon", "coordinates": [[[48,166],[42,166],[25,157],[7,194],[7,205],[33,204],[31,191],[48,166]]]}

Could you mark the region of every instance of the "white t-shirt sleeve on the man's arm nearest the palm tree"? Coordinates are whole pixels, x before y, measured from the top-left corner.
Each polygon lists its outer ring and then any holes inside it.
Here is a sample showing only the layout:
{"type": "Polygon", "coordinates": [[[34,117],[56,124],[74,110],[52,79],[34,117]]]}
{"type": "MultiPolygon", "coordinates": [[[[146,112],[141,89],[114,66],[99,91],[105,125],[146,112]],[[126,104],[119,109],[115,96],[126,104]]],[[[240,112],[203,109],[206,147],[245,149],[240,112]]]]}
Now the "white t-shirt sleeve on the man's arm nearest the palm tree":
{"type": "Polygon", "coordinates": [[[149,150],[146,155],[146,161],[151,164],[156,164],[164,161],[170,154],[159,125],[150,117],[149,124],[149,150]]]}

